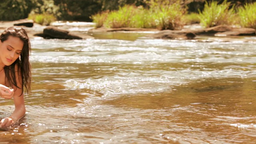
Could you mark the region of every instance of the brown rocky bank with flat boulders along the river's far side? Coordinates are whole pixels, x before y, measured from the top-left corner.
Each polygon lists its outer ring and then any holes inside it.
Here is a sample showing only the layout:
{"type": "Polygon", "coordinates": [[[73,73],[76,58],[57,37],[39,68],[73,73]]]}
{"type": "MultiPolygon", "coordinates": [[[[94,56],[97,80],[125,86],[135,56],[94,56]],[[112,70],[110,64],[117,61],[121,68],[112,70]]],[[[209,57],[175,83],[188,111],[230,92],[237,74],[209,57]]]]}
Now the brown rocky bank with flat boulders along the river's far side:
{"type": "MultiPolygon", "coordinates": [[[[74,32],[68,30],[70,26],[55,25],[55,26],[41,26],[32,22],[31,20],[18,20],[13,22],[0,22],[0,32],[9,26],[24,27],[30,38],[59,38],[59,39],[87,39],[93,38],[81,32],[74,32]]],[[[204,42],[211,41],[243,41],[256,42],[256,30],[253,28],[237,28],[226,25],[214,26],[212,28],[201,28],[199,24],[184,26],[182,30],[156,30],[145,28],[91,28],[88,30],[91,33],[97,32],[152,32],[148,34],[148,38],[157,39],[178,39],[178,40],[198,40],[204,42]]]]}

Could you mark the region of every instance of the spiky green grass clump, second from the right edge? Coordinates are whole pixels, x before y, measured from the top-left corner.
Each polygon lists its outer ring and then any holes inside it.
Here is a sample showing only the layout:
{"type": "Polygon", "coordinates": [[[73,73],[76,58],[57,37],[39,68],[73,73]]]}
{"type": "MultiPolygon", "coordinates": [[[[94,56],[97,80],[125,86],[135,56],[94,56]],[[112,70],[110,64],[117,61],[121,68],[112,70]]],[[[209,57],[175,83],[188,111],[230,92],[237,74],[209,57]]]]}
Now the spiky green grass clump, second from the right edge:
{"type": "Polygon", "coordinates": [[[230,8],[230,2],[226,0],[222,4],[216,1],[206,2],[204,10],[199,11],[200,24],[205,28],[221,24],[232,25],[234,24],[234,12],[234,6],[230,8]]]}

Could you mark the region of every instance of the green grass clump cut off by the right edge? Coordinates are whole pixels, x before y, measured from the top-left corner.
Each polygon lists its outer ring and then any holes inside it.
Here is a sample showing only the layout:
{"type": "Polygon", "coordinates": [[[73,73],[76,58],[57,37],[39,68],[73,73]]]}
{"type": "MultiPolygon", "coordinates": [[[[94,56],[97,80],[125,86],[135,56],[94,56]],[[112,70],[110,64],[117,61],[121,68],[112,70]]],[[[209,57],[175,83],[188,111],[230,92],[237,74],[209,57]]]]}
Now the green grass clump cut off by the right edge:
{"type": "Polygon", "coordinates": [[[256,29],[256,2],[238,8],[240,26],[256,29]]]}

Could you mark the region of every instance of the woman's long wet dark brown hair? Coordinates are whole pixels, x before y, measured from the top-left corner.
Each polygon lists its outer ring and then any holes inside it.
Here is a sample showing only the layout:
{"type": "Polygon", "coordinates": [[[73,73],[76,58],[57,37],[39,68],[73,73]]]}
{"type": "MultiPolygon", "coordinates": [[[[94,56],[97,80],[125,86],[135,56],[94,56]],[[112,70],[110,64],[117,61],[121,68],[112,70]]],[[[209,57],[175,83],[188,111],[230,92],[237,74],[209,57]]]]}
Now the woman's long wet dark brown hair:
{"type": "MultiPolygon", "coordinates": [[[[4,30],[4,32],[0,35],[1,42],[4,42],[8,39],[9,36],[14,36],[20,38],[22,40],[23,48],[20,54],[20,57],[15,60],[10,66],[4,66],[4,73],[6,76],[6,80],[11,86],[13,84],[17,88],[16,75],[15,75],[15,66],[18,66],[18,75],[21,74],[22,77],[22,93],[23,88],[26,88],[26,92],[30,92],[30,83],[31,83],[31,65],[29,62],[29,54],[31,52],[30,40],[28,38],[28,34],[26,30],[18,26],[11,26],[4,30]]],[[[22,95],[22,93],[20,95],[22,95]]]]}

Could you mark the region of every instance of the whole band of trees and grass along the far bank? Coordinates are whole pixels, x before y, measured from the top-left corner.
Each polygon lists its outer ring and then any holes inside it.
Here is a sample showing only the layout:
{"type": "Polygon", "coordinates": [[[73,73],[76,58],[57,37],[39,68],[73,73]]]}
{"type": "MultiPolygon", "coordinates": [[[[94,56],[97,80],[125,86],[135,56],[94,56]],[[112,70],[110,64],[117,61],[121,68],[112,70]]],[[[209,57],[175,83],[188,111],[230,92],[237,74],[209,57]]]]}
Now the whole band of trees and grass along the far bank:
{"type": "Polygon", "coordinates": [[[5,0],[0,21],[29,18],[42,25],[55,20],[95,22],[106,28],[178,30],[200,23],[256,28],[255,0],[5,0]]]}

